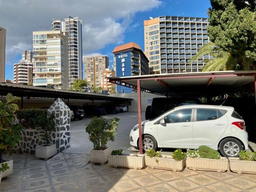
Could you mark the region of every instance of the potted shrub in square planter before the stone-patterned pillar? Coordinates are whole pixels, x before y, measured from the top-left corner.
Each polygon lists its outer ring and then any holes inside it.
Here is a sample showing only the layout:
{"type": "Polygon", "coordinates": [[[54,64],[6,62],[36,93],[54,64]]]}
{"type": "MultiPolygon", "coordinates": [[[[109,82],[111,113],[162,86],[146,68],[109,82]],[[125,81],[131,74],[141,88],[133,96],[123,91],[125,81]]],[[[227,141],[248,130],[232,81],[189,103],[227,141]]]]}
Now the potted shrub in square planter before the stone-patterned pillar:
{"type": "Polygon", "coordinates": [[[47,116],[47,113],[44,113],[35,119],[39,137],[44,140],[44,144],[35,147],[35,157],[47,160],[56,154],[56,144],[51,143],[51,133],[55,131],[54,118],[54,114],[47,116]]]}

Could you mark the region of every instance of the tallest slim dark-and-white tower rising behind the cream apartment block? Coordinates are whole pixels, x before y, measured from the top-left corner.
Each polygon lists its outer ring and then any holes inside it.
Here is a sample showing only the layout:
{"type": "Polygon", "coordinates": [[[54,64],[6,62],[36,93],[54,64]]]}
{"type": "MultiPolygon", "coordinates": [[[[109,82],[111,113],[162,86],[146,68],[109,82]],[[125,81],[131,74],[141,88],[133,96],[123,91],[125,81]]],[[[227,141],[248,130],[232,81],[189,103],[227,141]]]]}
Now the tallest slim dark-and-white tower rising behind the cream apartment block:
{"type": "Polygon", "coordinates": [[[76,79],[83,79],[82,67],[82,21],[78,17],[67,19],[53,19],[52,30],[61,30],[67,33],[69,40],[69,87],[76,79]]]}

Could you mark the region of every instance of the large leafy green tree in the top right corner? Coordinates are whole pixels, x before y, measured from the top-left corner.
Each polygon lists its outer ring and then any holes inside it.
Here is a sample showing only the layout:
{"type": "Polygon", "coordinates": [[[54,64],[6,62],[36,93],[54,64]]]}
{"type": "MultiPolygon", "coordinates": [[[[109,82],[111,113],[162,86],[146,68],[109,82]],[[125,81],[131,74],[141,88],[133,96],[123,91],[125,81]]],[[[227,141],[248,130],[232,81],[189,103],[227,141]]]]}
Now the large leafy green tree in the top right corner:
{"type": "MultiPolygon", "coordinates": [[[[239,64],[238,69],[254,69],[256,1],[210,0],[210,2],[212,5],[212,8],[208,9],[210,25],[207,27],[210,41],[214,42],[218,49],[226,52],[223,60],[236,59],[239,64]]],[[[224,67],[222,68],[224,70],[224,67]]]]}

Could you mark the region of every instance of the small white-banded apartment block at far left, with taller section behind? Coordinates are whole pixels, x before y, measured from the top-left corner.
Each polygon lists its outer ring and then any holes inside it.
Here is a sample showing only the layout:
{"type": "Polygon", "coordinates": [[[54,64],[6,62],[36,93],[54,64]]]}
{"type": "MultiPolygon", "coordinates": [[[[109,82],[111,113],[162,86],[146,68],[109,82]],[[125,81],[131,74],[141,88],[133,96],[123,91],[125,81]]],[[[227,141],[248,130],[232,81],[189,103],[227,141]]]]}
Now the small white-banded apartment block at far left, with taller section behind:
{"type": "Polygon", "coordinates": [[[26,50],[22,53],[22,59],[13,66],[13,83],[32,84],[33,83],[33,52],[26,50]]]}

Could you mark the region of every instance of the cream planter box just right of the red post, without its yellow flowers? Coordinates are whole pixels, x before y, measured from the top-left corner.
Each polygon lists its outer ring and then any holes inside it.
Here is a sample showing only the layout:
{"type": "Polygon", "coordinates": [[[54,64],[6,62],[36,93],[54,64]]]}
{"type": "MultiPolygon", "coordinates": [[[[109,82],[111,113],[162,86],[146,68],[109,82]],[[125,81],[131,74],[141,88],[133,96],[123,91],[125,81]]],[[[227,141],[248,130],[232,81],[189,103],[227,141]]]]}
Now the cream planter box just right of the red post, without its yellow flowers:
{"type": "Polygon", "coordinates": [[[151,168],[156,169],[166,169],[172,171],[181,171],[185,166],[185,160],[176,161],[170,155],[166,155],[165,157],[148,157],[145,156],[145,165],[151,168]],[[165,158],[166,157],[166,158],[165,158]],[[158,160],[158,163],[156,162],[158,160]]]}

